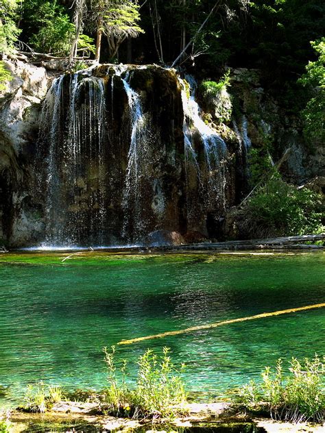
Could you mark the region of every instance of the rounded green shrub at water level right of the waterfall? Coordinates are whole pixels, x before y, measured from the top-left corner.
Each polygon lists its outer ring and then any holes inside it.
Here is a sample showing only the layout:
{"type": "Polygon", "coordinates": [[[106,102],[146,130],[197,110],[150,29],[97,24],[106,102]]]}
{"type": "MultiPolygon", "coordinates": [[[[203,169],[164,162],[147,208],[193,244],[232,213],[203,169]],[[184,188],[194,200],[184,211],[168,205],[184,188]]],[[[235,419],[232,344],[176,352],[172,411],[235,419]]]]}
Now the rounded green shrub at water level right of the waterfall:
{"type": "Polygon", "coordinates": [[[273,177],[243,208],[241,231],[254,238],[316,234],[322,226],[322,197],[273,177]]]}

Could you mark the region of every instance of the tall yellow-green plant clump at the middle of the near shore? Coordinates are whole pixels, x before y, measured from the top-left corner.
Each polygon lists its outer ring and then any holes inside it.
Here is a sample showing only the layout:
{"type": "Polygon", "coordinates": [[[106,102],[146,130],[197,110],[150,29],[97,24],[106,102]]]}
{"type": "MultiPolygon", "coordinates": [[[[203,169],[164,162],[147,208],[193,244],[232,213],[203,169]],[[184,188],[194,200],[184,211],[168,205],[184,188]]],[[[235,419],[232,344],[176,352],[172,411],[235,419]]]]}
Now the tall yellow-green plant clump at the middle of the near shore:
{"type": "MultiPolygon", "coordinates": [[[[167,347],[163,355],[157,356],[152,350],[139,357],[138,373],[135,383],[127,384],[128,369],[125,360],[117,371],[115,347],[111,351],[104,348],[105,362],[108,367],[108,388],[105,400],[108,412],[134,419],[172,418],[184,411],[186,402],[184,384],[171,362],[167,347]],[[118,378],[118,373],[120,380],[118,378]]],[[[184,366],[182,365],[181,369],[184,366]]]]}

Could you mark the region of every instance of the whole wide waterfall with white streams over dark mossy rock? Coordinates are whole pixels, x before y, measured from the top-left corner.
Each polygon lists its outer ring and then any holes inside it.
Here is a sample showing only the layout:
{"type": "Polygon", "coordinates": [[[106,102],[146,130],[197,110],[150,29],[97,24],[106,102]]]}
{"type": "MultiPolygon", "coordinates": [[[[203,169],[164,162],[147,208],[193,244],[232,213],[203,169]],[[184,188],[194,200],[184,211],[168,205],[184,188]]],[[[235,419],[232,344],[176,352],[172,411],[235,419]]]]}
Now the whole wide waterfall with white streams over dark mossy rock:
{"type": "Polygon", "coordinates": [[[53,80],[36,167],[45,246],[207,234],[226,206],[228,150],[204,123],[196,86],[158,66],[106,65],[53,80]]]}

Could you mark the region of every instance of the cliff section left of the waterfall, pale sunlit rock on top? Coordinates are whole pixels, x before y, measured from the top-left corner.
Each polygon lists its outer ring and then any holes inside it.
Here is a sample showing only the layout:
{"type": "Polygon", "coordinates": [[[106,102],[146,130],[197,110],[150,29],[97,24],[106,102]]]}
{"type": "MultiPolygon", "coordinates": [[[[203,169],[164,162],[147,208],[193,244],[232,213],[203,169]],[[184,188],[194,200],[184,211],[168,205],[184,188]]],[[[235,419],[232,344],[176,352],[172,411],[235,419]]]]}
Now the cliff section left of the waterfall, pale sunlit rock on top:
{"type": "Polygon", "coordinates": [[[42,227],[30,185],[49,77],[44,68],[19,60],[7,67],[12,81],[0,94],[0,243],[25,245],[42,227]]]}

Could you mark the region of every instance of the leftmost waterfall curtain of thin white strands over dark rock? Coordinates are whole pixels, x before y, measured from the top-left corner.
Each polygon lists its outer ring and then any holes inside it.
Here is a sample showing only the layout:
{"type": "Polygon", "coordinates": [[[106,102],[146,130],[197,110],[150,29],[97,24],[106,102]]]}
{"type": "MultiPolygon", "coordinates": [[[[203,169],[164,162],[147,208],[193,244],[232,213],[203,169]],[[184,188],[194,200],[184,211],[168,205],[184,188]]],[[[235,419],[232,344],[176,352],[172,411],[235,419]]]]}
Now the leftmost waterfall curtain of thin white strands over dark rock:
{"type": "Polygon", "coordinates": [[[45,139],[49,147],[45,246],[76,245],[83,238],[104,242],[105,105],[103,79],[82,73],[55,79],[47,94],[43,130],[47,125],[51,129],[45,139]],[[67,79],[68,104],[62,90],[67,79]]]}

